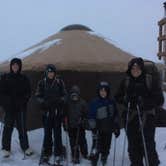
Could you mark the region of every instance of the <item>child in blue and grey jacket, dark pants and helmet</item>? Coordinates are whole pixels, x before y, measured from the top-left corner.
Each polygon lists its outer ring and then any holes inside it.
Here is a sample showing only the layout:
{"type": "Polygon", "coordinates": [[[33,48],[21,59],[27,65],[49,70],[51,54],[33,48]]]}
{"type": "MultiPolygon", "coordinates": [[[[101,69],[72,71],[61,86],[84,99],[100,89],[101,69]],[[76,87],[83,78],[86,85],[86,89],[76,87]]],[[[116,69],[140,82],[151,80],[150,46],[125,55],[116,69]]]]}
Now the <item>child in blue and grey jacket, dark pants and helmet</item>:
{"type": "Polygon", "coordinates": [[[100,82],[97,88],[97,98],[90,103],[89,126],[93,132],[93,145],[90,154],[92,164],[96,165],[99,154],[105,165],[109,155],[112,133],[120,134],[119,118],[116,103],[110,95],[110,85],[100,82]]]}

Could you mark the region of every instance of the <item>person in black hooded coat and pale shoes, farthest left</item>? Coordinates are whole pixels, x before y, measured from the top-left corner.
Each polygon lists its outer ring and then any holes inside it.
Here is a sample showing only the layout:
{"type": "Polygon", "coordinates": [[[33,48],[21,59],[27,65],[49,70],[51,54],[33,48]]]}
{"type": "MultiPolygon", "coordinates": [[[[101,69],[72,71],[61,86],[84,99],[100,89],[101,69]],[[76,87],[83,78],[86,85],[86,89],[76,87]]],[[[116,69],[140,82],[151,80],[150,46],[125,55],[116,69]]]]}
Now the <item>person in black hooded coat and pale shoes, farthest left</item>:
{"type": "Polygon", "coordinates": [[[1,77],[0,96],[1,104],[5,110],[2,134],[4,157],[10,156],[11,136],[15,122],[19,132],[21,149],[26,155],[32,154],[26,129],[27,102],[31,95],[31,88],[29,79],[21,73],[21,69],[21,60],[14,58],[10,62],[10,72],[1,77]]]}

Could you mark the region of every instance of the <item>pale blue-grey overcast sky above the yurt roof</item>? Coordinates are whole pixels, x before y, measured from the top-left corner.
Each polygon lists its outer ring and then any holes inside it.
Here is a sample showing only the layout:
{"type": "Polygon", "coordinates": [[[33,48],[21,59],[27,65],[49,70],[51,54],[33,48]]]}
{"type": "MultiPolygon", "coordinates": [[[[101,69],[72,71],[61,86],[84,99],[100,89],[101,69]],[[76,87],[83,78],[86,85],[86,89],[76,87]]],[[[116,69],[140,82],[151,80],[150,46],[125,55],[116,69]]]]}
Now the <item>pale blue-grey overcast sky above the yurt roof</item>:
{"type": "Polygon", "coordinates": [[[122,49],[157,60],[164,0],[0,0],[0,61],[69,24],[83,24],[122,49]]]}

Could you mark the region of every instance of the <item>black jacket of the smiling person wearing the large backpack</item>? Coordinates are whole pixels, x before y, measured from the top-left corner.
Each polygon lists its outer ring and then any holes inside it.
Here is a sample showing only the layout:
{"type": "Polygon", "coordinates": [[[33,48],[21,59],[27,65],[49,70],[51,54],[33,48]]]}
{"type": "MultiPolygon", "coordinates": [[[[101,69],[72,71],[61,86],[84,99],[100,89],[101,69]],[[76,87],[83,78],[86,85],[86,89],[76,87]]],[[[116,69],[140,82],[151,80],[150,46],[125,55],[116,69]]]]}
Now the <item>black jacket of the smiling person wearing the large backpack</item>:
{"type": "Polygon", "coordinates": [[[130,101],[133,109],[140,104],[143,111],[161,106],[164,101],[161,87],[157,86],[156,82],[152,82],[151,89],[147,87],[146,73],[138,78],[134,78],[128,73],[122,80],[115,98],[120,104],[127,105],[130,101]]]}

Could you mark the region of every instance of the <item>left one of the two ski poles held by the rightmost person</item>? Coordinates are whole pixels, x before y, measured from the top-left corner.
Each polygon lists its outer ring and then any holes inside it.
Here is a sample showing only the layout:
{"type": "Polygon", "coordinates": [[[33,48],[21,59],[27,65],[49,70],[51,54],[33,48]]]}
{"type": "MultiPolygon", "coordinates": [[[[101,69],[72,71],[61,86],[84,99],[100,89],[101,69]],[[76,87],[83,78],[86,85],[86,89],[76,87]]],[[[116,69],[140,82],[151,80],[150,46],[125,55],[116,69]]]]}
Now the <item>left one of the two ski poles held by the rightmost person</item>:
{"type": "Polygon", "coordinates": [[[125,158],[125,149],[126,149],[126,138],[127,138],[127,128],[128,128],[129,112],[130,112],[130,102],[128,102],[128,105],[127,105],[127,115],[126,115],[126,124],[125,124],[125,132],[126,132],[126,134],[124,135],[124,142],[123,142],[122,166],[124,166],[124,158],[125,158]]]}

